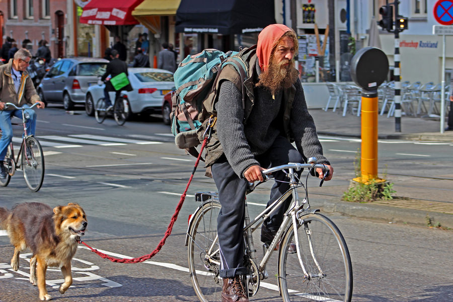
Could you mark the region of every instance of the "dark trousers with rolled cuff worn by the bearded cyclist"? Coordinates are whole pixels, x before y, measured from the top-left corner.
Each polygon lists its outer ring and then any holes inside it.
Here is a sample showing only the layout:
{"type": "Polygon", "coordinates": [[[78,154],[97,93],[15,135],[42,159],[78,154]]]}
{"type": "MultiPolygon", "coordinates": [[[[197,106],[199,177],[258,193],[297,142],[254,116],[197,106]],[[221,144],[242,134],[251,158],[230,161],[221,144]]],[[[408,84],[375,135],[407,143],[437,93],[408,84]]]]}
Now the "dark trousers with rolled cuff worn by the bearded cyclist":
{"type": "MultiPolygon", "coordinates": [[[[303,163],[304,159],[291,143],[283,136],[278,136],[266,153],[256,160],[263,168],[270,168],[287,163],[303,163]]],[[[239,178],[230,163],[222,156],[212,165],[212,177],[219,193],[222,205],[217,218],[217,233],[220,245],[220,277],[233,278],[247,273],[244,266],[244,198],[248,181],[239,178]]],[[[288,181],[285,173],[274,174],[276,180],[288,181]]],[[[270,193],[268,206],[289,189],[288,183],[275,182],[270,193]]],[[[277,230],[283,220],[283,214],[291,202],[291,197],[267,221],[266,226],[277,230]]]]}

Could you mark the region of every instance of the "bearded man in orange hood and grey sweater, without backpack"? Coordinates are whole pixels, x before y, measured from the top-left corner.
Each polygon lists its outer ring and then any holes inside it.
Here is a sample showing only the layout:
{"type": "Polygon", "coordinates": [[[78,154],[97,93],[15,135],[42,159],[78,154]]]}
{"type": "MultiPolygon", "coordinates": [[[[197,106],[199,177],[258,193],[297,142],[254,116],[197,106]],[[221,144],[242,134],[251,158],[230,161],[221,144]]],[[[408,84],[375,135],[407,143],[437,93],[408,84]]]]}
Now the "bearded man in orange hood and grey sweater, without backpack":
{"type": "MultiPolygon", "coordinates": [[[[309,157],[316,157],[318,163],[328,166],[326,180],[333,175],[294,68],[293,57],[297,52],[294,31],[281,24],[269,25],[259,34],[258,44],[246,52],[247,58],[243,58],[248,74],[244,90],[231,65],[221,71],[215,110],[216,134],[223,152],[219,153],[218,147],[211,152],[207,147],[206,154],[206,166],[211,167],[222,205],[217,218],[222,302],[248,301],[240,281],[240,276],[247,274],[243,227],[248,183],[263,181],[264,169],[289,162],[303,163],[309,157]],[[243,91],[247,92],[244,99],[243,91]]],[[[323,178],[321,169],[317,173],[323,178]]],[[[275,173],[274,177],[277,181],[268,205],[289,189],[285,173],[275,173]]],[[[266,219],[261,229],[262,242],[272,241],[290,201],[291,197],[266,219]]]]}

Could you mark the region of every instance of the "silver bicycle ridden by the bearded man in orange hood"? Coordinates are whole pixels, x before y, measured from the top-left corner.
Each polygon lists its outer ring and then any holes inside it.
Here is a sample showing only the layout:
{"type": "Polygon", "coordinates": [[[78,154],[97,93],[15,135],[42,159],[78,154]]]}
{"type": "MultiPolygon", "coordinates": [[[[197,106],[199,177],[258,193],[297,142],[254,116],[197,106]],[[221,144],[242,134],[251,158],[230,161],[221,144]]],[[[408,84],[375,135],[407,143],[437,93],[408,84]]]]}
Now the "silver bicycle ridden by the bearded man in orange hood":
{"type": "MultiPolygon", "coordinates": [[[[298,182],[296,172],[304,168],[311,171],[316,168],[328,170],[324,165],[315,163],[316,158],[310,158],[308,164],[288,163],[262,171],[265,176],[279,170],[285,171],[290,179],[289,190],[253,221],[250,221],[247,202],[245,204],[244,263],[248,264],[249,273],[242,276],[241,280],[249,296],[255,295],[260,281],[268,278],[266,265],[274,249],[278,247],[277,282],[283,301],[351,300],[352,265],[346,242],[332,220],[319,213],[319,210],[310,208],[308,175],[305,185],[298,182]],[[305,189],[303,200],[298,197],[296,189],[299,187],[305,189]],[[258,263],[252,233],[290,195],[292,203],[271,244],[263,244],[264,256],[258,263]],[[290,248],[292,243],[295,243],[295,252],[290,248]]],[[[265,181],[268,179],[266,176],[265,181]]],[[[324,179],[321,180],[320,186],[323,181],[324,179]]],[[[259,184],[261,183],[252,184],[248,193],[259,184]]],[[[220,301],[222,281],[219,277],[217,216],[221,206],[218,193],[197,192],[195,200],[201,201],[202,204],[190,217],[185,242],[188,246],[191,281],[200,301],[220,301]]]]}

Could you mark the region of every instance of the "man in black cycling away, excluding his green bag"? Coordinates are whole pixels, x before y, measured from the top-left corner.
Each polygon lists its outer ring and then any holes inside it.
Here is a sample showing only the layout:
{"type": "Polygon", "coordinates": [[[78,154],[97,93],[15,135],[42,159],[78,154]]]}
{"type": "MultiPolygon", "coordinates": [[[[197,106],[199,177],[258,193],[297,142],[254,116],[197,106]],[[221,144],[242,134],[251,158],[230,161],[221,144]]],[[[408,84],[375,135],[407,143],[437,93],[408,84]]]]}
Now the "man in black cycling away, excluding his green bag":
{"type": "MultiPolygon", "coordinates": [[[[119,59],[119,53],[117,50],[112,50],[112,57],[113,59],[107,64],[107,68],[105,73],[101,77],[101,81],[105,81],[107,77],[110,75],[110,78],[116,77],[118,74],[124,72],[126,75],[127,73],[127,64],[126,62],[119,59]]],[[[112,101],[110,100],[109,92],[115,92],[115,100],[120,96],[121,90],[132,91],[132,87],[129,85],[121,88],[120,90],[116,90],[110,81],[105,81],[105,88],[104,88],[104,102],[106,110],[109,111],[112,108],[112,101]]]]}

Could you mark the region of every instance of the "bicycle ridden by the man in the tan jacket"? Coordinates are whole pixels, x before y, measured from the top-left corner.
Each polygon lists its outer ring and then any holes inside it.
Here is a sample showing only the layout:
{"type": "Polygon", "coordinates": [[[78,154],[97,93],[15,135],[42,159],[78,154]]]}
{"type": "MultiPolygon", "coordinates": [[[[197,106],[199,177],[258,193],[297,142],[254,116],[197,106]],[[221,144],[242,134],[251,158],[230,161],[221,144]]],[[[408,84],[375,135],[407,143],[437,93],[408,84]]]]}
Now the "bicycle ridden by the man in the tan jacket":
{"type": "Polygon", "coordinates": [[[44,180],[44,155],[38,139],[32,134],[27,134],[25,118],[25,109],[31,109],[37,104],[35,103],[31,107],[17,107],[13,103],[5,104],[5,106],[12,106],[17,110],[22,110],[22,125],[24,126],[25,135],[22,137],[21,147],[16,159],[14,156],[13,141],[8,145],[7,154],[2,163],[7,170],[7,177],[0,178],[0,186],[2,187],[8,186],[11,177],[19,169],[24,172],[25,182],[31,191],[37,192],[42,186],[44,180]],[[21,162],[19,162],[19,157],[21,157],[21,162]]]}

